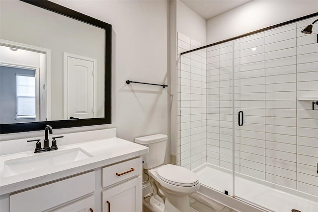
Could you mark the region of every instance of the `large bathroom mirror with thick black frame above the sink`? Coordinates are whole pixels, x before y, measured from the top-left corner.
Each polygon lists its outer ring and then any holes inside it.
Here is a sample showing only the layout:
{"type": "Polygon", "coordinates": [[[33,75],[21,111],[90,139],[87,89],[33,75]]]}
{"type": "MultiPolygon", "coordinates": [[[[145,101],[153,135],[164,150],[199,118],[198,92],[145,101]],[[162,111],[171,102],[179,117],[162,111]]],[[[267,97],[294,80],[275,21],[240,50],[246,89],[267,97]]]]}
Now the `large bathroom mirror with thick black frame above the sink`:
{"type": "Polygon", "coordinates": [[[110,124],[111,25],[48,0],[0,9],[0,134],[110,124]]]}

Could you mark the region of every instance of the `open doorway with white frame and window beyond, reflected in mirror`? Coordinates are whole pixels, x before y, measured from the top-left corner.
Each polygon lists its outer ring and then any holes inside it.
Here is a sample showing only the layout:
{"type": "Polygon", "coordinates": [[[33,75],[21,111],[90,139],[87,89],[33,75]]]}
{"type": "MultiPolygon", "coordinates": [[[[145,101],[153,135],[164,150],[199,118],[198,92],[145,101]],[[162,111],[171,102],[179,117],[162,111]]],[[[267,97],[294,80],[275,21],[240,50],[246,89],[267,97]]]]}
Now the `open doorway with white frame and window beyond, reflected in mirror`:
{"type": "Polygon", "coordinates": [[[5,45],[0,45],[0,124],[46,121],[46,54],[5,45]]]}

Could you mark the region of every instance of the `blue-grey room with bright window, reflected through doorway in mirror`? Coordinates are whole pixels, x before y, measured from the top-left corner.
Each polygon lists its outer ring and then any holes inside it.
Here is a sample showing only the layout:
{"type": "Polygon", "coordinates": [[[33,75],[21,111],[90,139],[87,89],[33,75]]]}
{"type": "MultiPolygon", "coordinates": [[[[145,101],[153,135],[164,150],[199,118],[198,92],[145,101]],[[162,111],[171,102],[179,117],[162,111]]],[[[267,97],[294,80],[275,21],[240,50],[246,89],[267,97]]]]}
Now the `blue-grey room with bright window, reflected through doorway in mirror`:
{"type": "Polygon", "coordinates": [[[36,69],[0,64],[0,123],[39,119],[36,69]]]}

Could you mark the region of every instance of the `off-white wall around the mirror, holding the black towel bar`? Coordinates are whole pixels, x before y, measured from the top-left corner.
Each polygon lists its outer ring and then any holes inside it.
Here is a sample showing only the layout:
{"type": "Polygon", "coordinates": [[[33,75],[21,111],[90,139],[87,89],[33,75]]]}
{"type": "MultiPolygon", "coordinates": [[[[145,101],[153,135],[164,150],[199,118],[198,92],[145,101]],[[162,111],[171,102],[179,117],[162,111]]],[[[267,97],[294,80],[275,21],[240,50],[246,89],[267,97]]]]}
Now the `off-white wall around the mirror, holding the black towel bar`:
{"type": "MultiPolygon", "coordinates": [[[[168,3],[161,0],[53,1],[110,23],[113,29],[112,124],[61,129],[53,133],[116,127],[117,136],[128,141],[157,133],[166,134],[169,138],[168,89],[126,84],[127,79],[167,83],[168,3]]],[[[34,133],[23,133],[23,136],[27,138],[31,134],[34,133]]],[[[37,134],[42,135],[44,131],[37,134]]],[[[11,137],[15,136],[21,137],[21,134],[11,137]]],[[[1,137],[8,139],[7,135],[1,137]]],[[[167,146],[169,152],[170,145],[167,146]]]]}

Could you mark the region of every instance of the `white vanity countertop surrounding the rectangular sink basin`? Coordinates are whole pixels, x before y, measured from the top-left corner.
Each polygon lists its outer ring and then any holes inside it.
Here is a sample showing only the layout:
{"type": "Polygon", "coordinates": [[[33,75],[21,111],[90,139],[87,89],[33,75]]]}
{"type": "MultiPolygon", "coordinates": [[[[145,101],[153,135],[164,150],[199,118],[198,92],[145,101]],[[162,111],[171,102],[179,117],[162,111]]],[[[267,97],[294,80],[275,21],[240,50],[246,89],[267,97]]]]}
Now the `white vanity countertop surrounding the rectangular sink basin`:
{"type": "MultiPolygon", "coordinates": [[[[35,146],[35,145],[34,145],[35,146]]],[[[59,149],[41,153],[26,151],[0,156],[0,195],[9,194],[22,189],[45,184],[68,176],[76,175],[98,167],[141,156],[149,151],[148,147],[122,140],[109,138],[98,141],[88,141],[77,144],[59,146],[59,149]],[[89,158],[58,166],[48,166],[39,170],[30,171],[18,175],[4,177],[4,162],[6,160],[39,157],[67,149],[81,148],[91,155],[89,158]]]]}

